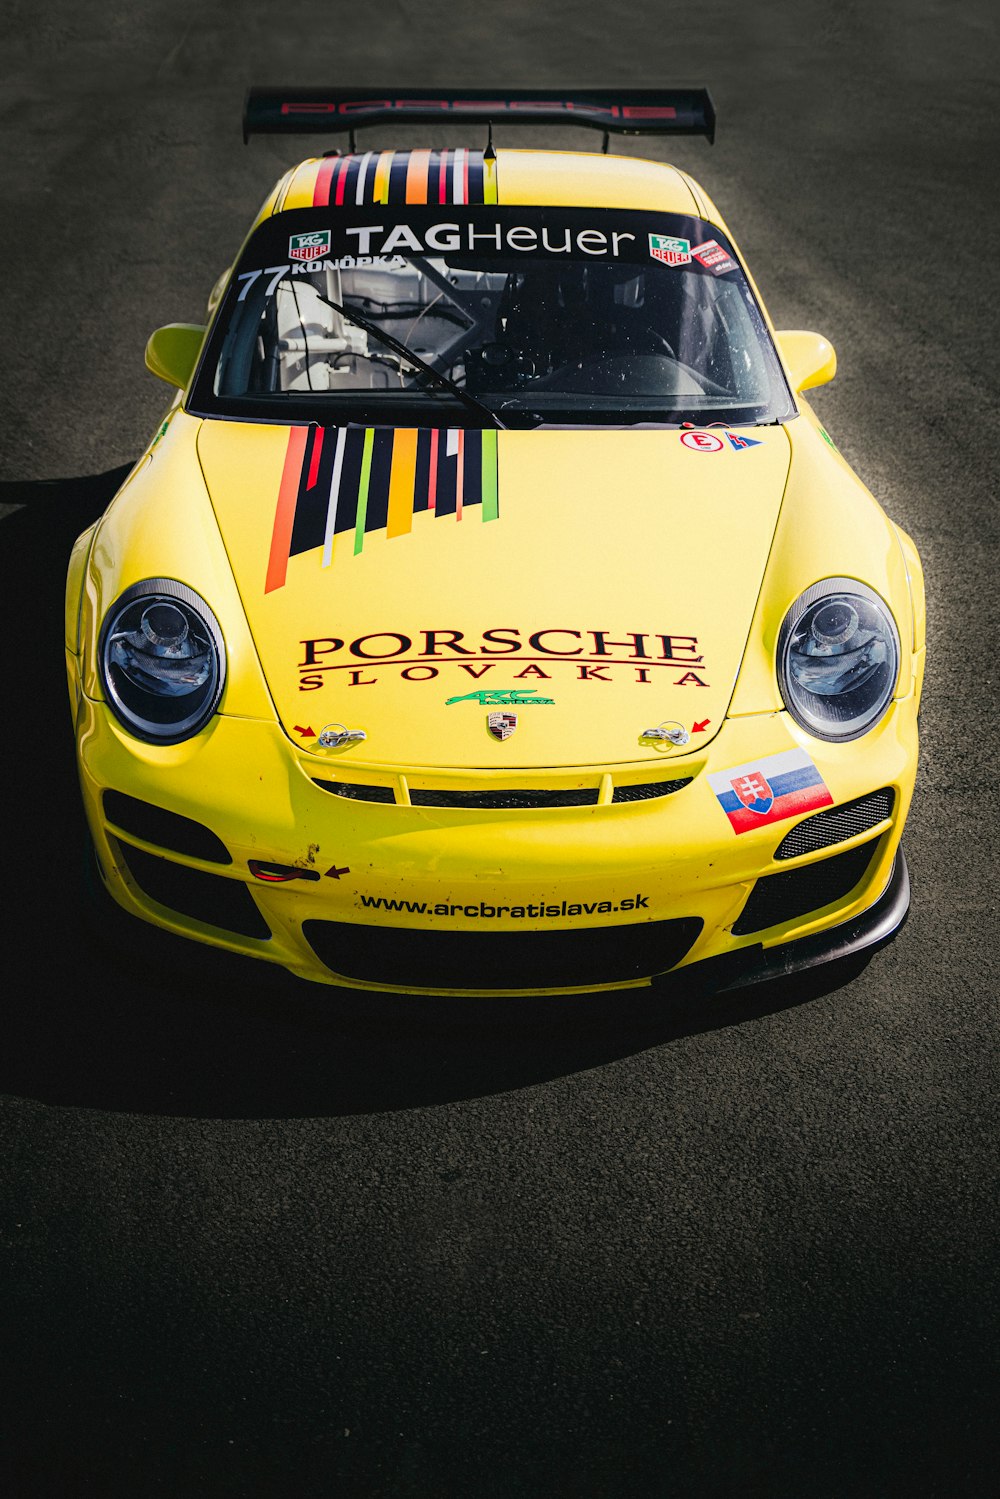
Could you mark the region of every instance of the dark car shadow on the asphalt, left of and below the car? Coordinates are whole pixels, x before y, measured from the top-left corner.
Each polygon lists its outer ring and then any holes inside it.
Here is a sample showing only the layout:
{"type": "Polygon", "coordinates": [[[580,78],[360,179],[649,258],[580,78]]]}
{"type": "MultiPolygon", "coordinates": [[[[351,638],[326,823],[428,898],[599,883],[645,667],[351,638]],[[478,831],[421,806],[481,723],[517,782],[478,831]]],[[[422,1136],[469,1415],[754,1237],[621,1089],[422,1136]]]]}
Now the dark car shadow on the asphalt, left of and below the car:
{"type": "Polygon", "coordinates": [[[808,1003],[865,958],[705,995],[406,997],[312,985],[132,920],[99,889],[63,669],[75,537],[129,465],[0,484],[6,790],[0,1091],[204,1118],[370,1114],[532,1087],[808,1003]]]}

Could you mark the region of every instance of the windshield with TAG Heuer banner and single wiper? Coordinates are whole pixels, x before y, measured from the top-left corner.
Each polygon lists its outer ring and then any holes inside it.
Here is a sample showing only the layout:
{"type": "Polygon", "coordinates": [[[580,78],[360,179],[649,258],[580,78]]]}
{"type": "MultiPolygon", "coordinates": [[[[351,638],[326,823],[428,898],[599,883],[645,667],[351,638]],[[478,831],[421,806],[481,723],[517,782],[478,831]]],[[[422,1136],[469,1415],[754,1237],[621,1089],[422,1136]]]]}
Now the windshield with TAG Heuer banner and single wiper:
{"type": "Polygon", "coordinates": [[[720,229],[664,213],[496,205],[265,220],[189,405],[243,420],[480,427],[795,415],[720,229]]]}

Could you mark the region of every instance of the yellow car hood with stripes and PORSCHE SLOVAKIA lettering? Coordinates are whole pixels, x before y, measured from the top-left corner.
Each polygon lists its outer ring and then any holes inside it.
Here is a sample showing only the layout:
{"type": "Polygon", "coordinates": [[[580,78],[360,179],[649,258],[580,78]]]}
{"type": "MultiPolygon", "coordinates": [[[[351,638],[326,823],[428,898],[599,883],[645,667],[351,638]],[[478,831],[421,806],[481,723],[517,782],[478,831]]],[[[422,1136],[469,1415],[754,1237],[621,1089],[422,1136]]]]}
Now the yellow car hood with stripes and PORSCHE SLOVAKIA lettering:
{"type": "Polygon", "coordinates": [[[448,432],[205,421],[211,504],[288,736],[354,763],[583,766],[726,717],[783,427],[448,432]]]}

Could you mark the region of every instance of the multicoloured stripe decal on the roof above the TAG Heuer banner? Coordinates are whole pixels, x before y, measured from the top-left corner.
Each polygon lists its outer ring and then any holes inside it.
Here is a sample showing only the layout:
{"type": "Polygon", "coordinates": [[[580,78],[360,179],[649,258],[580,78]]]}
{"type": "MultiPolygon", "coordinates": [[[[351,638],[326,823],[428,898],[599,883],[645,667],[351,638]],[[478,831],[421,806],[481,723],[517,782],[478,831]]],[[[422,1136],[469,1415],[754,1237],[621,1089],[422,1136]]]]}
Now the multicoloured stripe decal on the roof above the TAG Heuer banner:
{"type": "Polygon", "coordinates": [[[496,160],[465,147],[447,151],[358,151],[327,156],[315,208],[369,204],[496,202],[496,160]]]}

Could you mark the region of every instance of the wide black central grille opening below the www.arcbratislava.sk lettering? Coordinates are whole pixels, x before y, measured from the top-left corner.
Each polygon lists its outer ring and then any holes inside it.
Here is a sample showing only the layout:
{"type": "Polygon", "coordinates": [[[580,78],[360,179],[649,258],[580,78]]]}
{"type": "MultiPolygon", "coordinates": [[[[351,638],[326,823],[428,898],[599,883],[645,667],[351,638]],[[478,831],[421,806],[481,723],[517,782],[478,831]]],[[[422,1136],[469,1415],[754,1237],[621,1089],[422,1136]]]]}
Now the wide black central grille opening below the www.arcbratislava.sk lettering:
{"type": "Polygon", "coordinates": [[[303,922],[319,961],[345,979],[424,989],[613,988],[672,968],[690,952],[700,929],[694,916],[553,932],[303,922]]]}

